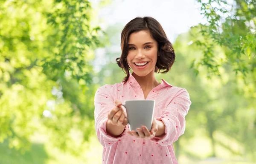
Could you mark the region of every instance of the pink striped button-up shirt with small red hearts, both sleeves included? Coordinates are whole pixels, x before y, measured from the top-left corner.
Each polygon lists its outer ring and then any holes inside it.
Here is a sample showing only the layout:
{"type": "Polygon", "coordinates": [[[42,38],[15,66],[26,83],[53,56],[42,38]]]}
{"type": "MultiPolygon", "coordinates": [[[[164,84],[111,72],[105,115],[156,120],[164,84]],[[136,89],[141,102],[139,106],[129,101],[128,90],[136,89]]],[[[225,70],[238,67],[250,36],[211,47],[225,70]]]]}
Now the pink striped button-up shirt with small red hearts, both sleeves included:
{"type": "Polygon", "coordinates": [[[155,100],[154,117],[165,124],[163,137],[140,139],[127,134],[128,126],[119,137],[106,133],[108,112],[115,106],[114,101],[145,99],[143,90],[131,75],[126,83],[104,85],[95,93],[95,129],[103,146],[103,164],[178,164],[173,142],[185,131],[185,116],[191,101],[184,88],[162,83],[152,89],[146,99],[155,100]]]}

